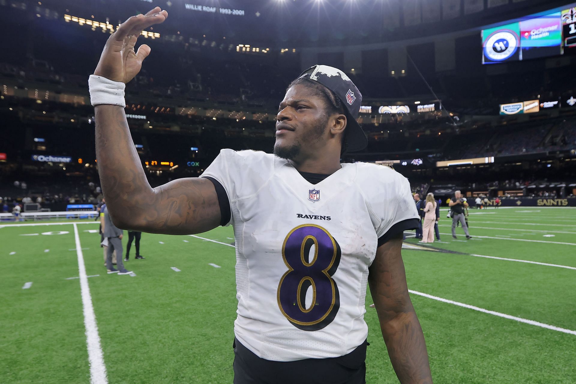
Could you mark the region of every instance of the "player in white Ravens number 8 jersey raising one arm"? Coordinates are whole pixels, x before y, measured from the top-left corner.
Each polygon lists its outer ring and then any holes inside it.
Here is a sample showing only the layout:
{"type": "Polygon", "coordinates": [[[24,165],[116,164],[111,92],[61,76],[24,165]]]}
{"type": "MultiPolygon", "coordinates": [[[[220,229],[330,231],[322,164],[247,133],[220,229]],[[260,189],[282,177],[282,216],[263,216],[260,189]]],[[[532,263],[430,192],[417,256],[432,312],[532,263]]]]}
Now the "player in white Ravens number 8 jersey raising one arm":
{"type": "Polygon", "coordinates": [[[418,227],[408,180],[365,163],[355,120],[362,95],[342,71],[314,66],[290,84],[276,117],[274,154],[222,150],[198,178],[151,188],[124,114],[124,84],[150,54],[143,29],[156,7],[113,33],[94,75],[96,153],[114,222],[194,234],[232,225],[236,238],[234,383],[364,383],[366,285],[401,383],[431,383],[422,329],[401,258],[418,227]]]}

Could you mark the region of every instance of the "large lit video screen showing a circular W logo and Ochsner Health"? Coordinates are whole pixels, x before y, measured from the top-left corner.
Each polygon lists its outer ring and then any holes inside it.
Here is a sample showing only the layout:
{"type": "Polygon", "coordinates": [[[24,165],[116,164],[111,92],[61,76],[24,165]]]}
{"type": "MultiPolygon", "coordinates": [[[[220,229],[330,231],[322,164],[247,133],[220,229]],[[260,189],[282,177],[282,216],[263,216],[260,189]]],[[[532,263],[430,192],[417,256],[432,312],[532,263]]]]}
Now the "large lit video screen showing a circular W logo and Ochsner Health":
{"type": "Polygon", "coordinates": [[[482,63],[562,55],[576,46],[576,3],[482,30],[482,63]]]}

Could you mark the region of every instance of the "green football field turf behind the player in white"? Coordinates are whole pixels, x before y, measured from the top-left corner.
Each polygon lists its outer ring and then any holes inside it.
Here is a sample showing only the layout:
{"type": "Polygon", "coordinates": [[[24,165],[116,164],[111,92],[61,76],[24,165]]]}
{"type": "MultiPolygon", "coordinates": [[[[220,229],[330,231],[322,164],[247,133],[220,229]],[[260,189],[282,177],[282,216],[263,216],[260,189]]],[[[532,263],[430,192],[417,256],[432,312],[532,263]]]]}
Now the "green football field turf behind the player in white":
{"type": "MultiPolygon", "coordinates": [[[[0,383],[89,383],[80,281],[67,280],[79,276],[74,225],[5,224],[0,383]],[[52,231],[65,233],[41,234],[52,231]],[[32,286],[22,289],[26,282],[32,286]]],[[[406,240],[408,288],[564,332],[412,294],[434,382],[576,383],[576,269],[565,268],[576,268],[576,210],[471,210],[469,224],[474,238],[465,241],[457,229],[459,241],[453,241],[444,211],[443,242],[426,245],[435,250],[411,249],[425,245],[406,240]]],[[[142,234],[146,260],[134,260],[132,245],[126,263],[136,276],[107,275],[98,223],[76,227],[86,273],[100,275],[88,283],[108,382],[231,383],[234,248],[191,236],[142,234]]],[[[232,233],[228,227],[199,236],[232,244],[232,233]]],[[[124,249],[126,243],[127,235],[124,249]]],[[[371,303],[368,294],[367,382],[397,383],[371,303]]]]}

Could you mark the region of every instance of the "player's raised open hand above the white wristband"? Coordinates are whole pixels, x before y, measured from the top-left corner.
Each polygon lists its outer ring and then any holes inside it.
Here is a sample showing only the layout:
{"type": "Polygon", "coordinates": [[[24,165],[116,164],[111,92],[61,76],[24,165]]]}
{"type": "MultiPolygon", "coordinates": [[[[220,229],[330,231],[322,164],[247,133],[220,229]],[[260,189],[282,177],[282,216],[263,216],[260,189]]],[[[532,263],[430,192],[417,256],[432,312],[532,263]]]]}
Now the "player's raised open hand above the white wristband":
{"type": "Polygon", "coordinates": [[[94,75],[123,83],[133,79],[142,68],[143,60],[150,55],[151,51],[146,44],[140,45],[138,52],[134,51],[138,36],[144,29],[164,22],[167,17],[168,12],[156,7],[145,15],[132,16],[120,24],[116,32],[112,33],[106,41],[94,75]]]}

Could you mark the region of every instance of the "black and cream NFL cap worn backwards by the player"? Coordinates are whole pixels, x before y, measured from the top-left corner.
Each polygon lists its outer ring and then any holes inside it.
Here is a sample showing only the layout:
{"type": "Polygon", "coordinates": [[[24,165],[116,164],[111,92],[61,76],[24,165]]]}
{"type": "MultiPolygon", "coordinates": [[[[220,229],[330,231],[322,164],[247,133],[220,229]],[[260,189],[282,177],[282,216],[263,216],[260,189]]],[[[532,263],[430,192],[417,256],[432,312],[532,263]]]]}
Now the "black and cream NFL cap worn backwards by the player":
{"type": "Polygon", "coordinates": [[[302,72],[298,79],[308,78],[325,86],[342,101],[346,107],[347,125],[344,132],[346,150],[350,152],[361,151],[368,145],[366,134],[356,119],[362,105],[362,93],[356,88],[352,80],[341,70],[326,65],[316,64],[302,72]]]}

